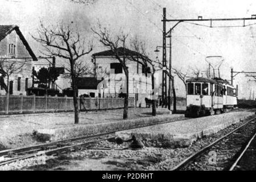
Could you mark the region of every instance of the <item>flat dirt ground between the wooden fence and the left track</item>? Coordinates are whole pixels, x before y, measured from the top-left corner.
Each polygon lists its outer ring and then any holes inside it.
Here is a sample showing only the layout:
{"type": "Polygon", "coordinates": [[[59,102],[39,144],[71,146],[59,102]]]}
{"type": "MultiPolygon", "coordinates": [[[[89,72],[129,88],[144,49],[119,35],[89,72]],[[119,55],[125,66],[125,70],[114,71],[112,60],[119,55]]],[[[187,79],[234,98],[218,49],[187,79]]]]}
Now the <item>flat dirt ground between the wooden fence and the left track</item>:
{"type": "MultiPolygon", "coordinates": [[[[150,117],[151,108],[129,108],[129,118],[150,117]]],[[[116,122],[123,118],[123,109],[80,112],[79,125],[116,122]]],[[[39,113],[0,115],[1,148],[24,147],[36,144],[32,132],[74,126],[74,113],[39,113]]]]}

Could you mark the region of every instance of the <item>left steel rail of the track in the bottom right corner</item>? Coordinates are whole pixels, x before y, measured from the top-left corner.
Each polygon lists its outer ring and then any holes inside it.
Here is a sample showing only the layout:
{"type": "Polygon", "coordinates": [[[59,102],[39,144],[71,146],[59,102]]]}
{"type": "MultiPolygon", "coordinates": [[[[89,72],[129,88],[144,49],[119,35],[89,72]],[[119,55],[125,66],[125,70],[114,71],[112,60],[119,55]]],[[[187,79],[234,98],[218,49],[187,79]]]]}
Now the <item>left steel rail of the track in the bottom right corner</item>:
{"type": "Polygon", "coordinates": [[[188,164],[190,161],[192,161],[193,159],[195,159],[198,155],[202,154],[204,151],[208,150],[210,147],[212,147],[214,144],[220,142],[222,139],[228,137],[229,135],[233,134],[235,131],[241,129],[243,126],[246,126],[248,123],[250,123],[251,121],[253,121],[254,119],[256,119],[256,117],[250,119],[249,121],[247,121],[246,123],[244,123],[243,125],[237,127],[236,129],[230,131],[229,133],[227,133],[226,135],[224,135],[223,137],[215,140],[213,143],[210,143],[208,146],[202,148],[200,151],[190,155],[188,158],[186,158],[185,160],[183,160],[181,163],[179,163],[177,166],[175,166],[174,168],[170,169],[170,171],[178,171],[180,170],[182,167],[184,167],[186,164],[188,164]]]}

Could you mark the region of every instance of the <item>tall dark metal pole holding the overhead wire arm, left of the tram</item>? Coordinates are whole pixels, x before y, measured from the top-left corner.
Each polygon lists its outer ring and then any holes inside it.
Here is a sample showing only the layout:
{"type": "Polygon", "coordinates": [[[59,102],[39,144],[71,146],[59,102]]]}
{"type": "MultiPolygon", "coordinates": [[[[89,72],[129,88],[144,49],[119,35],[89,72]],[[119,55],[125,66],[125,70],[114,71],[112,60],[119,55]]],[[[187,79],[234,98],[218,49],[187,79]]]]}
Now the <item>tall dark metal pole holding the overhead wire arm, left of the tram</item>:
{"type": "MultiPolygon", "coordinates": [[[[166,8],[163,9],[162,29],[162,67],[166,67],[166,8]]],[[[166,106],[166,73],[162,72],[162,107],[166,106]]]]}

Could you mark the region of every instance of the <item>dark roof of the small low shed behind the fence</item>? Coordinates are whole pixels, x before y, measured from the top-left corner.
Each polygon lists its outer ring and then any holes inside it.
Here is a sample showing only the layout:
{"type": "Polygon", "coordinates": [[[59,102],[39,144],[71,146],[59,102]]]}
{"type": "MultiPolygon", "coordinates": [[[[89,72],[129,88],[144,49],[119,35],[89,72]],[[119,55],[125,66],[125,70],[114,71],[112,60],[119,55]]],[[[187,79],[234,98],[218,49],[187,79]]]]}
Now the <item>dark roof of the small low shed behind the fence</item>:
{"type": "Polygon", "coordinates": [[[97,89],[97,85],[101,80],[95,77],[79,77],[77,78],[78,89],[97,89]]]}

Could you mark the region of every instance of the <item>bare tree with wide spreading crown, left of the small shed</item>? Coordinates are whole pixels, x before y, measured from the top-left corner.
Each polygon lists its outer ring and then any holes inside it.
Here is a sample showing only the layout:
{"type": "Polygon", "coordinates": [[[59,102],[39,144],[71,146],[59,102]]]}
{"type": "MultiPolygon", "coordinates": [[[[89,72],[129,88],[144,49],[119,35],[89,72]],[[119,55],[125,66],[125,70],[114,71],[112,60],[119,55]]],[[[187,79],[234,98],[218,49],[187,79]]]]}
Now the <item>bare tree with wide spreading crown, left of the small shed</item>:
{"type": "Polygon", "coordinates": [[[80,36],[78,30],[75,31],[70,25],[64,26],[62,23],[58,24],[56,27],[46,28],[41,22],[38,28],[38,37],[32,36],[32,38],[42,44],[45,49],[45,52],[43,52],[44,55],[58,56],[69,60],[75,109],[75,124],[79,123],[78,88],[76,85],[76,77],[78,75],[76,72],[80,64],[77,63],[77,61],[82,58],[82,56],[92,51],[92,42],[88,42],[86,46],[86,39],[80,36]],[[85,47],[87,47],[87,50],[85,47]]]}

